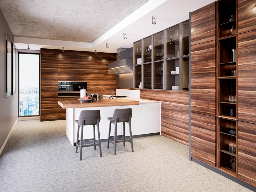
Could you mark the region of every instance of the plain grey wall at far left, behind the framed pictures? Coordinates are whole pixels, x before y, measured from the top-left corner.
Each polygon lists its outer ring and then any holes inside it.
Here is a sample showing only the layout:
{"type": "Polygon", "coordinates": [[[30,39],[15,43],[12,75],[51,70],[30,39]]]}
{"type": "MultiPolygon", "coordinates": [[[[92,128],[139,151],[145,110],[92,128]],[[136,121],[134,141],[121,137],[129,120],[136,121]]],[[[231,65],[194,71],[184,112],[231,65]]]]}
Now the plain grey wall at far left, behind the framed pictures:
{"type": "MultiPolygon", "coordinates": [[[[4,144],[8,134],[18,116],[18,93],[5,98],[6,92],[6,34],[14,41],[13,34],[9,28],[2,11],[0,10],[0,148],[4,144]]],[[[18,69],[18,66],[16,66],[18,69]]],[[[16,73],[18,74],[18,73],[16,73]]],[[[16,77],[16,80],[18,78],[16,77]]],[[[18,91],[16,81],[16,91],[18,91]]]]}

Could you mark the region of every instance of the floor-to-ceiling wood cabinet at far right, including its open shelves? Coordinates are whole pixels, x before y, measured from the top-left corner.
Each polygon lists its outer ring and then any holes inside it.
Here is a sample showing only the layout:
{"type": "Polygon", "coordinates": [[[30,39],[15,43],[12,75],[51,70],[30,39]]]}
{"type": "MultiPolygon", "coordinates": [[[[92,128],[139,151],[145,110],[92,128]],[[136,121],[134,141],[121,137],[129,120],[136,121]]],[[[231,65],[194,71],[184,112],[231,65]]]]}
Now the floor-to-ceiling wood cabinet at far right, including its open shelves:
{"type": "Polygon", "coordinates": [[[191,156],[254,187],[255,7],[219,0],[191,13],[191,156]]]}

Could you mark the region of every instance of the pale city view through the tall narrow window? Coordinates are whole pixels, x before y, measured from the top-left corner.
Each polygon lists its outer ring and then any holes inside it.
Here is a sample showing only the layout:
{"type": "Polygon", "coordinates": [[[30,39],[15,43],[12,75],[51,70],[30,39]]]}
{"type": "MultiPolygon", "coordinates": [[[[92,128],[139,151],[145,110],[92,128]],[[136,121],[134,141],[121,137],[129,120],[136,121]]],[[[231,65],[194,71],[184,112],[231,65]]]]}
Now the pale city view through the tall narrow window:
{"type": "Polygon", "coordinates": [[[39,115],[39,54],[19,54],[19,116],[39,115]]]}

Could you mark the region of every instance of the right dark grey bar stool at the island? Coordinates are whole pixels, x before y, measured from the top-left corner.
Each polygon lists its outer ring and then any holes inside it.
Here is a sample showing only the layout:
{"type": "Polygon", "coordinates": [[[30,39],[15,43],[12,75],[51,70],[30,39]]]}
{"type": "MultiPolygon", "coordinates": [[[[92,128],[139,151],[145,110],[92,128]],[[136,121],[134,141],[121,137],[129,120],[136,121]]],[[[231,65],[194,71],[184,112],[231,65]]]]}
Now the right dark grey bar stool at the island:
{"type": "Polygon", "coordinates": [[[131,118],[132,118],[132,108],[126,108],[126,109],[115,109],[113,117],[108,117],[109,120],[109,130],[108,130],[108,148],[109,148],[109,142],[111,142],[114,147],[114,155],[117,154],[117,143],[123,142],[123,146],[125,146],[125,142],[130,142],[133,152],[133,137],[132,137],[132,129],[131,129],[131,118]],[[123,135],[117,135],[117,123],[123,122],[123,135]],[[129,131],[130,131],[130,139],[125,138],[125,129],[124,125],[125,122],[129,124],[129,131]],[[111,132],[111,124],[115,125],[115,135],[110,136],[111,132]],[[122,137],[123,139],[117,140],[117,138],[122,137]],[[111,138],[114,138],[114,141],[111,141],[111,138]]]}

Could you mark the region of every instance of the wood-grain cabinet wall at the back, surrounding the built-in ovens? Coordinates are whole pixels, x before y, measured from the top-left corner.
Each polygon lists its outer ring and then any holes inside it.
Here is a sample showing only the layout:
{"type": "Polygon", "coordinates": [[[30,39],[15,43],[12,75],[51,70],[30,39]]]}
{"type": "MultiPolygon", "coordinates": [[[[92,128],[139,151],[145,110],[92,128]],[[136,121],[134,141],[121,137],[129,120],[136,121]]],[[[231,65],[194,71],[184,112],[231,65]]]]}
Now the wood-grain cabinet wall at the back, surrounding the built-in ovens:
{"type": "Polygon", "coordinates": [[[87,81],[88,93],[110,94],[116,91],[116,75],[108,75],[108,63],[116,61],[116,54],[41,49],[41,120],[66,118],[61,100],[77,97],[58,97],[58,81],[87,81]]]}

